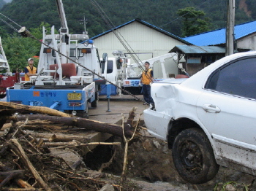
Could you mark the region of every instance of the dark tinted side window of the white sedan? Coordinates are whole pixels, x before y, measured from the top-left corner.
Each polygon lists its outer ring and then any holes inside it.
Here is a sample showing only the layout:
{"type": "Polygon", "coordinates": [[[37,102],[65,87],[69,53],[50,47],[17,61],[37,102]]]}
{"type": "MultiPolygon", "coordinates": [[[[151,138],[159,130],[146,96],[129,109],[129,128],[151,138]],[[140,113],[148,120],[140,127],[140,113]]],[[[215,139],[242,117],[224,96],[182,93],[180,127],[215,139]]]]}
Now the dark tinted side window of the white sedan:
{"type": "Polygon", "coordinates": [[[246,58],[217,69],[208,78],[206,89],[256,98],[256,58],[246,58]]]}

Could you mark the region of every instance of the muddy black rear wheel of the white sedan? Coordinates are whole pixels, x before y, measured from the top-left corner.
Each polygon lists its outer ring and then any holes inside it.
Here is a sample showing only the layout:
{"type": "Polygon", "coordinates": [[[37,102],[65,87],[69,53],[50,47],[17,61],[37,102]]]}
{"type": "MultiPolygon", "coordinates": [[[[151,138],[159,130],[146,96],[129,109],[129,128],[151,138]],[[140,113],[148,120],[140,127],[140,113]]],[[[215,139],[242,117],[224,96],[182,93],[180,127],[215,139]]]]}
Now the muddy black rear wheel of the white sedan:
{"type": "Polygon", "coordinates": [[[199,129],[181,131],[173,143],[172,155],[178,174],[189,183],[208,182],[219,171],[210,141],[199,129]]]}

